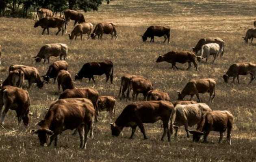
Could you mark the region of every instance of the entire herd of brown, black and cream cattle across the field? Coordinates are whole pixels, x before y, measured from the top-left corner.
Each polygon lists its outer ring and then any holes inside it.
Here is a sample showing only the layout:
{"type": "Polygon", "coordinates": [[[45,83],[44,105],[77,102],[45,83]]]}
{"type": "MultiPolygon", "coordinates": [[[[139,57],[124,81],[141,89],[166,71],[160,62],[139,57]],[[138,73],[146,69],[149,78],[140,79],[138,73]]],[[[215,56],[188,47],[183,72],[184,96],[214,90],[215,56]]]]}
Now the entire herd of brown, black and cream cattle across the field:
{"type": "MultiPolygon", "coordinates": [[[[112,38],[117,39],[117,31],[114,23],[98,23],[93,30],[92,23],[86,23],[82,13],[77,11],[66,10],[65,18],[52,17],[52,12],[48,9],[39,10],[39,20],[35,26],[41,26],[43,33],[48,28],[59,28],[56,35],[62,30],[66,30],[66,25],[69,19],[75,21],[74,30],[69,34],[69,38],[73,39],[82,34],[87,34],[88,39],[102,38],[102,34],[111,34],[112,38]],[[65,26],[65,29],[64,29],[65,26]],[[92,32],[93,31],[93,32],[92,32]]],[[[256,22],[255,22],[256,25],[256,22]]],[[[43,34],[42,33],[42,34],[43,34]]],[[[142,40],[146,41],[151,38],[150,42],[154,42],[154,36],[164,36],[164,42],[170,40],[171,30],[164,26],[150,26],[142,35],[142,40]]],[[[256,38],[256,28],[250,28],[245,36],[247,42],[250,38],[256,38]]],[[[188,63],[188,68],[191,68],[192,63],[198,71],[197,62],[202,59],[207,59],[213,55],[213,62],[223,56],[224,40],[221,38],[202,38],[198,41],[193,51],[170,51],[165,55],[160,55],[156,62],[169,62],[172,68],[176,66],[176,62],[184,64],[188,63]]],[[[0,46],[1,55],[1,46],[0,46]]],[[[28,91],[23,90],[24,80],[28,80],[28,89],[32,83],[36,83],[38,88],[42,88],[45,83],[50,83],[50,79],[57,79],[59,89],[59,99],[52,102],[45,118],[38,122],[40,128],[32,130],[34,134],[38,134],[41,145],[46,145],[48,136],[50,143],[54,140],[54,145],[57,145],[58,135],[64,130],[74,130],[80,136],[80,148],[85,149],[89,135],[93,138],[94,119],[99,121],[98,115],[100,111],[109,111],[110,115],[115,114],[116,98],[113,96],[100,96],[99,93],[92,88],[76,88],[72,76],[67,71],[68,64],[65,58],[68,55],[68,46],[66,44],[54,43],[47,44],[41,47],[39,53],[33,57],[35,62],[44,62],[50,57],[59,57],[59,61],[53,62],[46,75],[39,75],[37,68],[24,65],[11,65],[9,67],[9,75],[0,86],[0,113],[3,125],[4,117],[9,109],[15,110],[17,113],[18,124],[23,121],[25,126],[29,124],[30,96],[28,91]],[[62,87],[62,93],[60,90],[62,87]],[[4,110],[2,111],[2,107],[4,110]],[[90,134],[89,134],[90,132],[90,134]]],[[[1,60],[0,60],[1,62],[1,60]]],[[[74,79],[88,78],[89,81],[94,80],[94,75],[106,75],[106,82],[109,80],[113,83],[114,64],[110,60],[103,62],[88,62],[75,75],[74,79]]],[[[254,63],[237,63],[232,64],[223,79],[228,82],[229,77],[237,78],[239,75],[251,75],[253,81],[256,75],[256,64],[254,63]]],[[[126,74],[121,77],[121,85],[119,89],[119,98],[129,99],[129,93],[132,92],[132,98],[136,99],[138,94],[142,93],[144,100],[142,102],[134,102],[128,104],[121,112],[114,123],[111,123],[111,132],[113,136],[119,136],[124,127],[131,127],[132,139],[137,126],[139,126],[144,139],[147,139],[143,123],[155,123],[158,120],[163,122],[163,136],[167,135],[168,141],[175,129],[177,136],[178,128],[184,126],[189,138],[189,133],[193,134],[193,141],[199,141],[201,136],[204,136],[204,142],[207,142],[207,136],[210,131],[220,132],[219,143],[223,139],[223,132],[227,130],[227,141],[231,145],[231,130],[233,124],[233,115],[229,111],[213,111],[207,104],[200,103],[199,94],[209,93],[208,102],[213,102],[215,98],[214,79],[198,79],[189,81],[181,92],[178,92],[178,101],[171,103],[169,95],[166,92],[155,90],[149,79],[139,76],[126,74]],[[126,94],[125,94],[126,93],[126,94]],[[183,98],[190,95],[189,101],[183,101],[183,98]],[[198,103],[193,101],[193,96],[196,95],[198,103]],[[196,130],[189,130],[189,126],[197,125],[196,130]]]]}

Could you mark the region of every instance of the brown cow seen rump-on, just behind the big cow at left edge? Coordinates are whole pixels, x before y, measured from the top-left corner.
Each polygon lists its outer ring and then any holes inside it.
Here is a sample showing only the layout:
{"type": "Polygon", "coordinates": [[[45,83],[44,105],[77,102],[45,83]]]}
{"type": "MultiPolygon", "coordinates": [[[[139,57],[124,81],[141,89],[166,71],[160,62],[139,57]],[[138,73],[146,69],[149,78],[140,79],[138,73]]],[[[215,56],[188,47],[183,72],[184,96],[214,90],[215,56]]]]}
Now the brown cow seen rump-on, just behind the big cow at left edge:
{"type": "Polygon", "coordinates": [[[24,72],[20,69],[9,72],[7,79],[4,80],[2,86],[11,85],[21,88],[24,83],[24,72]]]}

